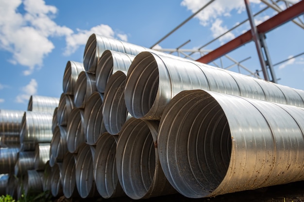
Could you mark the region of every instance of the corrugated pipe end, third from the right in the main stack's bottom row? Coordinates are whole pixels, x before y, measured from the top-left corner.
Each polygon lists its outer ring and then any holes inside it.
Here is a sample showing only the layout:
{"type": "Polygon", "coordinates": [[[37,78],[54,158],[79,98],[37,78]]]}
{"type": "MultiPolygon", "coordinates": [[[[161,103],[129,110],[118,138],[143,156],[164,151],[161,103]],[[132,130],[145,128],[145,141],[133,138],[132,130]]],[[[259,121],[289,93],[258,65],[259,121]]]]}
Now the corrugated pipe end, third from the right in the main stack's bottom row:
{"type": "Polygon", "coordinates": [[[118,136],[102,133],[96,143],[93,160],[94,180],[102,198],[124,196],[116,170],[116,145],[118,136]]]}

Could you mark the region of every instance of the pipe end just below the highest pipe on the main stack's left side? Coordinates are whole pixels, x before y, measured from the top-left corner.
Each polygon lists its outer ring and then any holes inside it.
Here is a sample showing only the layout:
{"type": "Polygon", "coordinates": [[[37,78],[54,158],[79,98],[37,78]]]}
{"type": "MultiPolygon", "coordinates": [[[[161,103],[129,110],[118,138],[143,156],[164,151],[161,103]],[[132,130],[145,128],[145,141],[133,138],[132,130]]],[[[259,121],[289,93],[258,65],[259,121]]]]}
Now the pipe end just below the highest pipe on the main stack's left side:
{"type": "Polygon", "coordinates": [[[67,125],[68,117],[75,108],[74,97],[73,95],[67,95],[62,93],[59,101],[59,106],[57,110],[57,122],[58,125],[67,125]]]}

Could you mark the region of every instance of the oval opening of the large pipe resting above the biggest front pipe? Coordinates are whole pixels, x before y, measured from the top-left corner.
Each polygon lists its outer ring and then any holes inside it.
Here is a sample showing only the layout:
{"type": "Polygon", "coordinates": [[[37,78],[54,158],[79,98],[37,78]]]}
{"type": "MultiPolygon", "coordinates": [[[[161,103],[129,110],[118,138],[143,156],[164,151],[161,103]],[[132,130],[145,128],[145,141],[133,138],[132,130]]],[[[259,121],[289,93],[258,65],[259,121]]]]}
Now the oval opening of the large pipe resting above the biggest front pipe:
{"type": "Polygon", "coordinates": [[[128,70],[124,92],[126,107],[133,117],[144,117],[152,108],[158,83],[157,62],[152,54],[137,55],[128,70]]]}

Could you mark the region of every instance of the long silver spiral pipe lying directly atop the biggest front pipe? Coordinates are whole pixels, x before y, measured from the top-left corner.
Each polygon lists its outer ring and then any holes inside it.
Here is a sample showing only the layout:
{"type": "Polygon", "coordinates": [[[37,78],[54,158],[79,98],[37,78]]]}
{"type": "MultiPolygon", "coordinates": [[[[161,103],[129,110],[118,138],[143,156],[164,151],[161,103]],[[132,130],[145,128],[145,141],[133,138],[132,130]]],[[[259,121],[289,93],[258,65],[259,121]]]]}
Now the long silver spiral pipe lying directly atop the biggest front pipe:
{"type": "Polygon", "coordinates": [[[268,81],[151,52],[139,53],[132,62],[126,78],[125,102],[133,117],[158,120],[174,95],[192,89],[254,96],[262,100],[270,97],[268,101],[304,106],[301,96],[292,88],[284,87],[283,90],[268,81]],[[252,90],[255,93],[248,93],[252,90]],[[293,101],[288,103],[288,100],[293,101]]]}

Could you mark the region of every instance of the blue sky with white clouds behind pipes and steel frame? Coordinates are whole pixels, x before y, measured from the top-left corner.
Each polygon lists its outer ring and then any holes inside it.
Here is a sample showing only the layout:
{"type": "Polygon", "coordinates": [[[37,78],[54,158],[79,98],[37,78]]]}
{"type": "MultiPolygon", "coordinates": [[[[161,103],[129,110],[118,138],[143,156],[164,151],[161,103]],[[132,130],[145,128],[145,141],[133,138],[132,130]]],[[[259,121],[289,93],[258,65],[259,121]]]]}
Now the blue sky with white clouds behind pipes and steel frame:
{"type": "MultiPolygon", "coordinates": [[[[84,46],[93,32],[151,47],[206,2],[0,0],[0,109],[26,110],[32,94],[60,97],[67,62],[83,62],[84,46]]],[[[256,13],[265,4],[252,0],[251,6],[256,13]]],[[[256,16],[255,22],[259,24],[275,14],[269,8],[256,16]]],[[[215,0],[159,46],[175,48],[190,39],[183,48],[198,48],[244,19],[243,0],[215,0]]],[[[249,28],[246,23],[205,49],[215,49],[249,28]]],[[[292,22],[268,32],[272,63],[304,52],[303,35],[304,30],[292,22]]],[[[236,61],[251,57],[242,64],[251,71],[260,69],[253,42],[228,55],[236,61]]],[[[220,60],[215,62],[220,64],[220,60]]],[[[222,63],[227,67],[233,62],[224,58],[222,63]]],[[[274,69],[280,84],[304,90],[304,55],[274,69]]],[[[237,72],[238,68],[230,70],[237,72]]],[[[247,74],[242,69],[241,73],[247,74]]]]}

